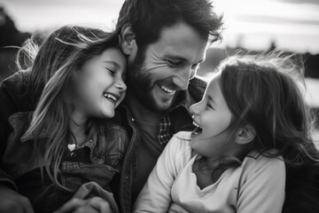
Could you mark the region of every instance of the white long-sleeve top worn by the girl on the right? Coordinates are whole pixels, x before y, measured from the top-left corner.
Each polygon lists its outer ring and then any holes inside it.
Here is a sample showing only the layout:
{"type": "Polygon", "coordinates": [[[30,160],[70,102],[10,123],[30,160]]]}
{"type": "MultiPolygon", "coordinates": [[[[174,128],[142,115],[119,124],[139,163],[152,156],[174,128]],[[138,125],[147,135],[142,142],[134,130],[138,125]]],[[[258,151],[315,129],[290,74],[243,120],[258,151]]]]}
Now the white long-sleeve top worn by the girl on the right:
{"type": "Polygon", "coordinates": [[[192,164],[191,132],[179,132],[159,156],[134,212],[280,213],[284,205],[285,167],[282,158],[248,154],[242,164],[225,170],[200,189],[192,164]]]}

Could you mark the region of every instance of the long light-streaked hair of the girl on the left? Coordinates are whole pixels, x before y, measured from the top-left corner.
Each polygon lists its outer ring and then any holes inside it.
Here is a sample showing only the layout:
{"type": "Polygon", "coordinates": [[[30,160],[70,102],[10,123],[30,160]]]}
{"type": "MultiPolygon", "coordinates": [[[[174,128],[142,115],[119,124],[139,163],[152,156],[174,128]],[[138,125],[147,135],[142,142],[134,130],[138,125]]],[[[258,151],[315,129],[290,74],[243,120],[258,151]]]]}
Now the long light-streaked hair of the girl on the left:
{"type": "Polygon", "coordinates": [[[51,180],[66,190],[58,182],[58,169],[67,143],[74,138],[69,128],[73,109],[62,99],[62,91],[74,70],[110,47],[119,47],[118,36],[113,33],[66,26],[40,44],[31,38],[21,48],[20,56],[27,56],[27,66],[21,67],[31,69],[29,89],[41,94],[25,136],[33,135],[39,161],[44,159],[51,180]]]}

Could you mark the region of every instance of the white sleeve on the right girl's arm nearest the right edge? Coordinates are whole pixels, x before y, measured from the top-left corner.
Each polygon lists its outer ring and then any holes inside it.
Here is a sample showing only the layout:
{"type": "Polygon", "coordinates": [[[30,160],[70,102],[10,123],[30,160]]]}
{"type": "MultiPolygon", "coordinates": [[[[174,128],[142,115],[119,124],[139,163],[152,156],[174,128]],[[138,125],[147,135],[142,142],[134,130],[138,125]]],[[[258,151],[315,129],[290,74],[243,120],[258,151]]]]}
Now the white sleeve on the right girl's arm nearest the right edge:
{"type": "Polygon", "coordinates": [[[239,183],[237,213],[280,213],[284,205],[284,161],[260,156],[245,167],[239,183]]]}

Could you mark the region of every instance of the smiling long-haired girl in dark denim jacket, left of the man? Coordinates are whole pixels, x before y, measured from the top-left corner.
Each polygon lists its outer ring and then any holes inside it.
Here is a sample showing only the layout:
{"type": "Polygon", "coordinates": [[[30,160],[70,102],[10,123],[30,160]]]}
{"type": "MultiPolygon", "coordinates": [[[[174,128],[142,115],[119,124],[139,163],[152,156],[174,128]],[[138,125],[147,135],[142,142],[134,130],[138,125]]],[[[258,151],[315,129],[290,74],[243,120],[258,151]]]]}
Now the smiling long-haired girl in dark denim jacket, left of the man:
{"type": "Polygon", "coordinates": [[[118,36],[97,28],[66,26],[40,45],[33,41],[18,55],[18,61],[25,57],[27,70],[15,75],[22,84],[28,79],[24,93],[38,101],[35,111],[9,117],[1,208],[12,207],[5,201],[19,192],[32,205],[24,204],[26,212],[52,212],[88,182],[110,191],[120,172],[128,136],[107,118],[125,97],[127,59],[118,36]]]}

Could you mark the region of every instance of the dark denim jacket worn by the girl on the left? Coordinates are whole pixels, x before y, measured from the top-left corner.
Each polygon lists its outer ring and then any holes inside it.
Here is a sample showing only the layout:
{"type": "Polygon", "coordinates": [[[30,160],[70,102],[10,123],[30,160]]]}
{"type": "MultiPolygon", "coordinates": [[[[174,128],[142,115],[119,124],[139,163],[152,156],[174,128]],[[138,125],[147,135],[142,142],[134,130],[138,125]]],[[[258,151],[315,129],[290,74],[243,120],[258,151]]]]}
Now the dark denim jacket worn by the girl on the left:
{"type": "MultiPolygon", "coordinates": [[[[96,119],[89,129],[88,139],[82,146],[65,154],[60,163],[58,180],[71,189],[67,192],[51,182],[43,170],[43,153],[35,158],[35,146],[47,138],[43,132],[35,142],[32,134],[25,132],[32,119],[32,112],[12,114],[8,121],[12,132],[1,155],[0,181],[26,196],[35,212],[52,212],[68,201],[85,183],[94,182],[110,190],[110,181],[121,170],[128,147],[127,131],[120,125],[105,119],[96,119]],[[43,176],[41,173],[43,170],[43,176]]],[[[67,146],[67,142],[65,143],[67,146]]],[[[39,146],[37,146],[39,147],[39,146]]]]}

